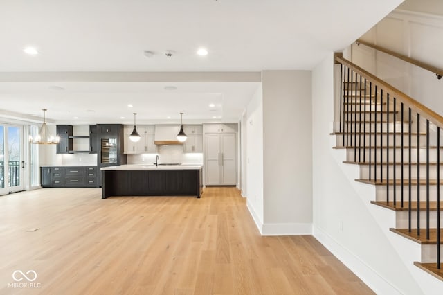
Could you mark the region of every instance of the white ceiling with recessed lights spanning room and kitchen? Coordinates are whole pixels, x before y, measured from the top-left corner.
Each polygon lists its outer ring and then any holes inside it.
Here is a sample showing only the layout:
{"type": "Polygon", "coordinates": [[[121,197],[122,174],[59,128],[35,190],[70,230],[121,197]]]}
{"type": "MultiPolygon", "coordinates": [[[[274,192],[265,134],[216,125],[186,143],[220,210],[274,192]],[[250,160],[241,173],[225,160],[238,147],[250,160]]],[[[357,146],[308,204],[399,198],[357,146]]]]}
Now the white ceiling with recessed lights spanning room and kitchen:
{"type": "Polygon", "coordinates": [[[179,117],[181,110],[185,121],[235,121],[260,85],[256,79],[183,82],[165,74],[168,82],[103,82],[81,73],[71,80],[44,73],[313,69],[400,2],[1,0],[0,109],[41,116],[45,107],[48,118],[73,124],[130,123],[134,111],[140,122],[154,122],[179,117]],[[25,46],[35,46],[39,55],[26,55],[25,46]],[[196,54],[201,46],[209,51],[205,57],[196,54]],[[38,82],[25,82],[33,75],[38,82]]]}

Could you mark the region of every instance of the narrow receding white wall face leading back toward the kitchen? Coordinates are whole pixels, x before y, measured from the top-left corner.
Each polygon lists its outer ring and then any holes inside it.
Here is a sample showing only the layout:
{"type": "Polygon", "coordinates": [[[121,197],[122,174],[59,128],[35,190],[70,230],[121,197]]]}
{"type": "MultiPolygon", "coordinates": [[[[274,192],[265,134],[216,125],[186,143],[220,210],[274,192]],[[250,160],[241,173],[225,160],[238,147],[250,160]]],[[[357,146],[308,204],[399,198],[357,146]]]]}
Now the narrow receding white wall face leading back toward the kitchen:
{"type": "Polygon", "coordinates": [[[262,87],[257,87],[246,108],[246,202],[260,233],[262,233],[264,215],[262,96],[262,87]]]}

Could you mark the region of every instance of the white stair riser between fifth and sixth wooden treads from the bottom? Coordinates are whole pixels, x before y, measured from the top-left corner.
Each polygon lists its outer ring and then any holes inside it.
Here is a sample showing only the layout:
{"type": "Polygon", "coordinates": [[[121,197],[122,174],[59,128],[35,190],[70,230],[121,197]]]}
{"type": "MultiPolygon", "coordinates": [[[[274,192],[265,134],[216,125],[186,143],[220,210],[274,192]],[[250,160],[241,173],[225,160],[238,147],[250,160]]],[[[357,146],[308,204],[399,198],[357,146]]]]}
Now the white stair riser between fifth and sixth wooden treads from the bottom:
{"type": "MultiPolygon", "coordinates": [[[[380,162],[380,161],[385,161],[388,159],[388,155],[389,155],[389,161],[393,161],[394,160],[394,153],[395,153],[395,161],[399,162],[401,161],[401,149],[399,148],[390,148],[388,151],[386,149],[379,149],[377,148],[377,150],[375,148],[366,148],[364,149],[365,152],[363,152],[363,148],[359,149],[356,148],[355,153],[354,153],[354,148],[348,148],[346,151],[346,161],[354,161],[356,159],[356,161],[367,161],[369,162],[369,157],[371,157],[371,162],[374,163],[374,161],[380,162]],[[356,157],[354,157],[354,154],[356,155],[356,157]]],[[[407,148],[403,149],[403,161],[408,162],[409,161],[409,151],[407,148]]],[[[415,163],[417,162],[417,148],[411,148],[411,154],[410,154],[410,158],[411,158],[411,163],[415,163]]],[[[426,149],[425,148],[420,148],[419,149],[419,160],[420,163],[425,163],[426,162],[426,149]]],[[[435,162],[437,161],[437,149],[433,148],[433,149],[429,149],[429,161],[431,162],[435,162]]],[[[440,149],[440,161],[443,162],[443,153],[442,150],[440,149]]]]}

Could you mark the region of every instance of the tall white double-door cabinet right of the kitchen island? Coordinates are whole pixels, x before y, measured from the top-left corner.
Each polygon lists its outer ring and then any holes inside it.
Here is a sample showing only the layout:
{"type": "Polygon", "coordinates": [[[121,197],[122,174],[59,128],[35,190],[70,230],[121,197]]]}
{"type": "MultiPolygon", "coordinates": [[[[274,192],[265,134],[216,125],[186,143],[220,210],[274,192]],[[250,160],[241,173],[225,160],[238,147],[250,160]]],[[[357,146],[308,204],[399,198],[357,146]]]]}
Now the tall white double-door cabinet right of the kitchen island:
{"type": "Polygon", "coordinates": [[[204,124],[204,170],[208,186],[237,184],[237,124],[204,124]]]}

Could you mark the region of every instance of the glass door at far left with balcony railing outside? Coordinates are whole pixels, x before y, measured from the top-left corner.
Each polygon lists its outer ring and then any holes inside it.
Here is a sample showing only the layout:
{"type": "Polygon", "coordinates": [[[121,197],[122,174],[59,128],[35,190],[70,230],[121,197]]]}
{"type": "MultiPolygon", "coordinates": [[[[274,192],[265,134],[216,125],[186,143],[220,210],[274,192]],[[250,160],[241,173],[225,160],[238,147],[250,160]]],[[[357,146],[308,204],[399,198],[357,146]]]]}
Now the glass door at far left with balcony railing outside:
{"type": "Polygon", "coordinates": [[[24,190],[23,127],[0,125],[0,195],[24,190]]]}

